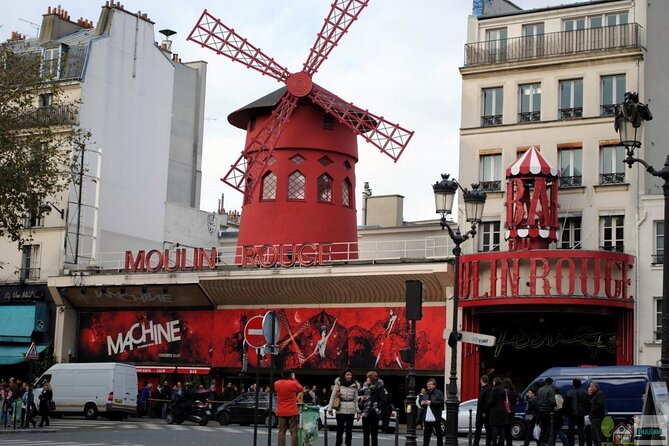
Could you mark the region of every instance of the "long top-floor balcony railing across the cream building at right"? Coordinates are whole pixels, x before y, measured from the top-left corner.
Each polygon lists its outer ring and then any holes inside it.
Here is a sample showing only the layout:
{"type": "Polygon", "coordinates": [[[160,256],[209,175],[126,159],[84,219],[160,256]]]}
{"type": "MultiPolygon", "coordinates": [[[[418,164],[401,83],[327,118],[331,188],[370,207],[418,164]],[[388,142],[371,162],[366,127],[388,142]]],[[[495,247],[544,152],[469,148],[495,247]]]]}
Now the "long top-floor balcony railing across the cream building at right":
{"type": "Polygon", "coordinates": [[[636,23],[465,44],[465,67],[641,48],[636,23]]]}

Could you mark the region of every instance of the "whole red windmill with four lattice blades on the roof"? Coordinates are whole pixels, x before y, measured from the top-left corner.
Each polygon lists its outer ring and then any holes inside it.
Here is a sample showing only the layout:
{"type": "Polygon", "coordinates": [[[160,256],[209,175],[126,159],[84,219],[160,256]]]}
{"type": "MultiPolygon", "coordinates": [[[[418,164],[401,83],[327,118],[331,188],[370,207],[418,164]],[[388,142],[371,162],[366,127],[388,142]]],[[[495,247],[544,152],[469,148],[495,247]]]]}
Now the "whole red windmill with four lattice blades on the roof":
{"type": "Polygon", "coordinates": [[[246,147],[222,178],[244,194],[238,254],[271,245],[280,248],[272,248],[274,260],[286,265],[306,243],[334,244],[329,248],[333,259],[356,257],[348,254],[354,247],[345,245],[354,245],[357,238],[356,137],[397,161],[413,132],[344,101],[312,77],[368,3],[336,0],[304,68],[296,73],[207,10],[188,36],[285,84],[228,116],[231,124],[247,131],[246,147]]]}

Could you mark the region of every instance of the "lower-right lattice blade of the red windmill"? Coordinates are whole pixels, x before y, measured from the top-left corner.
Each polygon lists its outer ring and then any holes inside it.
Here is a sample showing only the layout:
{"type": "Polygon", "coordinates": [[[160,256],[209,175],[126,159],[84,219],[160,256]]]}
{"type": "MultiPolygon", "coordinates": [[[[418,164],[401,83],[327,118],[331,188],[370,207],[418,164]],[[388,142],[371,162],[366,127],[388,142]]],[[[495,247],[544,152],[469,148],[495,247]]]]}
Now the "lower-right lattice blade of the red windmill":
{"type": "Polygon", "coordinates": [[[314,103],[323,107],[328,113],[337,117],[342,124],[378,147],[393,161],[399,159],[413,136],[413,131],[399,124],[393,124],[382,116],[355,107],[327,90],[314,88],[310,97],[314,103]]]}

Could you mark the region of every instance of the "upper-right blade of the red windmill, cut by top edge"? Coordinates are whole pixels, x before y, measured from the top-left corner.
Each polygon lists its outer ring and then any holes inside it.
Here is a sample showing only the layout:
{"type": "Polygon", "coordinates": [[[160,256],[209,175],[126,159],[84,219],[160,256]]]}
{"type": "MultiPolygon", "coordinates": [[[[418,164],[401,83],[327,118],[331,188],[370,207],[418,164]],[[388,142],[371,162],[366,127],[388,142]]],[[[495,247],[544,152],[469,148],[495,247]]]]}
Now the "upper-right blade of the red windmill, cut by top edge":
{"type": "Polygon", "coordinates": [[[306,73],[313,75],[318,71],[368,3],[369,0],[335,0],[314,46],[309,50],[309,57],[304,63],[306,73]]]}

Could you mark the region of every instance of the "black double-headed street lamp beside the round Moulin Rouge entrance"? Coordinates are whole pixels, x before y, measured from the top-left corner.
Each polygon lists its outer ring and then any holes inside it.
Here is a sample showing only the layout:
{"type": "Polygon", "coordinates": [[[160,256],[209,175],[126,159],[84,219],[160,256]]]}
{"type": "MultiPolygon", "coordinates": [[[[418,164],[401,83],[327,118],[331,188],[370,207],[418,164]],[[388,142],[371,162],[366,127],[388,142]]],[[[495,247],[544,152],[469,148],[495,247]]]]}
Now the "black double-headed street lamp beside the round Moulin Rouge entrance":
{"type": "Polygon", "coordinates": [[[460,245],[469,237],[476,235],[476,225],[483,218],[483,206],[486,194],[479,190],[478,184],[472,184],[472,190],[463,189],[455,178],[450,179],[448,174],[441,174],[441,181],[433,186],[434,201],[437,214],[441,214],[441,229],[448,229],[448,235],[455,243],[453,255],[455,256],[455,283],[453,284],[453,323],[448,345],[451,347],[451,376],[448,380],[446,397],[446,446],[458,445],[458,412],[460,411],[460,400],[458,400],[458,302],[460,300],[460,245]],[[446,215],[453,209],[455,193],[460,189],[465,201],[465,219],[471,224],[471,229],[466,233],[460,232],[458,225],[455,232],[446,222],[446,215]]]}

